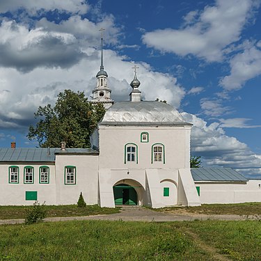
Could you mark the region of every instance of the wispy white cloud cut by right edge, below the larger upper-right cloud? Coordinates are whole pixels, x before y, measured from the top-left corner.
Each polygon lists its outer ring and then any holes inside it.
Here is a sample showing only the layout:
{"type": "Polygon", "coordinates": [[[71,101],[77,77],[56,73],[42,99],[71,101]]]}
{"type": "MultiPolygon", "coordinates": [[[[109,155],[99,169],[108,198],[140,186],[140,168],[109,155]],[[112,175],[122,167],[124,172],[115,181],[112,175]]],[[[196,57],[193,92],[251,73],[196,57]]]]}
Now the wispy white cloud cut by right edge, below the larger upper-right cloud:
{"type": "Polygon", "coordinates": [[[223,77],[220,85],[226,90],[239,90],[248,79],[261,74],[261,50],[257,47],[244,49],[230,61],[230,75],[223,77]]]}

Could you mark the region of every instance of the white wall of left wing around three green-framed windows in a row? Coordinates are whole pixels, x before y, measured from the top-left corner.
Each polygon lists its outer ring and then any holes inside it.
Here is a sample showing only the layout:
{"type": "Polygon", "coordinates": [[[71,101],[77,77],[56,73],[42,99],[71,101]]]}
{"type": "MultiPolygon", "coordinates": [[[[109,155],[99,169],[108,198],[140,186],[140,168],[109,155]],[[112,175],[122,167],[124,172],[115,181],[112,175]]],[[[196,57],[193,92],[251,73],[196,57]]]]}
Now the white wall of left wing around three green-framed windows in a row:
{"type": "Polygon", "coordinates": [[[35,200],[26,200],[26,191],[37,191],[38,202],[46,205],[56,204],[56,175],[54,164],[28,162],[26,164],[10,163],[0,165],[0,205],[33,205],[35,200]],[[8,182],[9,166],[19,167],[19,183],[10,184],[8,182]],[[33,166],[33,184],[24,184],[24,167],[33,166]],[[39,167],[49,166],[49,184],[40,184],[39,167]]]}

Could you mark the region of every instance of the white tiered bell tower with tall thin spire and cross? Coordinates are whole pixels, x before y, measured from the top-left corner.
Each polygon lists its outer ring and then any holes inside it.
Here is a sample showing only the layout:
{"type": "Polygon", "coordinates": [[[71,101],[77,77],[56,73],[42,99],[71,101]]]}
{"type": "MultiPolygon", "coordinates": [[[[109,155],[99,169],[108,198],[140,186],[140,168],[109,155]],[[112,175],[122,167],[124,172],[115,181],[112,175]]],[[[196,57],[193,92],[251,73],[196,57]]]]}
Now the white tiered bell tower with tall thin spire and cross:
{"type": "Polygon", "coordinates": [[[104,31],[104,29],[100,29],[100,31],[101,31],[101,40],[102,40],[101,65],[100,65],[100,71],[97,72],[97,75],[96,75],[97,85],[96,85],[96,88],[93,89],[93,100],[91,100],[91,102],[102,103],[105,109],[109,109],[109,107],[114,103],[114,101],[111,100],[111,89],[107,86],[108,74],[104,71],[104,65],[103,65],[102,31],[104,31]]]}

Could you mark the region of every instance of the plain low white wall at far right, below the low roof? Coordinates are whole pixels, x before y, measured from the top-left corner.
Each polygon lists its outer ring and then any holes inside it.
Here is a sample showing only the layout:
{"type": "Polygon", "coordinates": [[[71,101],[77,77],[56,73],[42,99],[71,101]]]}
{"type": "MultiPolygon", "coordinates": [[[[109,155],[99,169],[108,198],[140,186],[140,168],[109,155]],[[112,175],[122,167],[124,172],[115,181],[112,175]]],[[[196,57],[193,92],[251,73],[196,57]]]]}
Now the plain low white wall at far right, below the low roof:
{"type": "Polygon", "coordinates": [[[200,187],[203,204],[261,202],[261,180],[249,180],[246,184],[195,184],[200,187]]]}

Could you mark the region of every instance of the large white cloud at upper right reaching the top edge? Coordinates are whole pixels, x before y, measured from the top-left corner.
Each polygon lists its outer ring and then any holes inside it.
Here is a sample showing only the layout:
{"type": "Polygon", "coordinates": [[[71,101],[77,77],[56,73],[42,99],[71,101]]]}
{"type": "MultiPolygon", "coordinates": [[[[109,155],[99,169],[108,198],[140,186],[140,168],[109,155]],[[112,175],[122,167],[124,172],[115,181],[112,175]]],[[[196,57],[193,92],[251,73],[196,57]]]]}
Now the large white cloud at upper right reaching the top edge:
{"type": "Polygon", "coordinates": [[[148,32],[142,40],[161,52],[221,61],[226,47],[240,39],[244,25],[257,6],[253,0],[216,0],[214,6],[206,6],[200,13],[188,13],[183,28],[148,32]]]}

